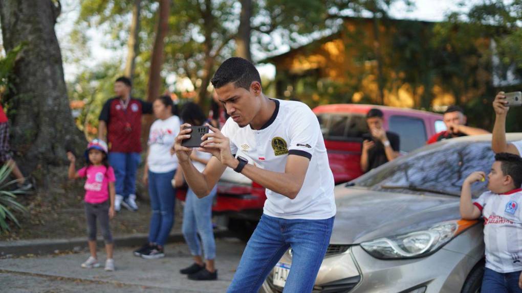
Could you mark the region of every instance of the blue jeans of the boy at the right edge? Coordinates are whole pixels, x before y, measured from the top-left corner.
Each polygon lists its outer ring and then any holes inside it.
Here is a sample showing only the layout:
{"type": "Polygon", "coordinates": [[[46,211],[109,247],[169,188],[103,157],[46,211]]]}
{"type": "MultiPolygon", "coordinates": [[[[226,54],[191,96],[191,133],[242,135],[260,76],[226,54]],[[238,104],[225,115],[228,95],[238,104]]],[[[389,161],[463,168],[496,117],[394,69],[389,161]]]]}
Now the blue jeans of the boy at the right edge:
{"type": "Polygon", "coordinates": [[[520,271],[513,273],[497,273],[487,267],[482,278],[482,289],[484,293],[522,293],[518,287],[520,271]]]}

